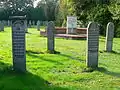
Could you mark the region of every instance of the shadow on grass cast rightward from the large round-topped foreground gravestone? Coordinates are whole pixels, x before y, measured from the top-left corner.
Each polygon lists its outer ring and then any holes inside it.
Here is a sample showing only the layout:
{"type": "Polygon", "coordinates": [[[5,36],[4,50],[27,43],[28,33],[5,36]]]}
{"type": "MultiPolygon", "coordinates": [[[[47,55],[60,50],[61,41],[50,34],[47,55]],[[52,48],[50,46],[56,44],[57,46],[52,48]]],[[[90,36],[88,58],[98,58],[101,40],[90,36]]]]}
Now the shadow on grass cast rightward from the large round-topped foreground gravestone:
{"type": "Polygon", "coordinates": [[[107,75],[111,75],[111,76],[120,78],[120,73],[108,71],[106,68],[99,67],[97,70],[102,72],[102,73],[105,73],[107,75]]]}

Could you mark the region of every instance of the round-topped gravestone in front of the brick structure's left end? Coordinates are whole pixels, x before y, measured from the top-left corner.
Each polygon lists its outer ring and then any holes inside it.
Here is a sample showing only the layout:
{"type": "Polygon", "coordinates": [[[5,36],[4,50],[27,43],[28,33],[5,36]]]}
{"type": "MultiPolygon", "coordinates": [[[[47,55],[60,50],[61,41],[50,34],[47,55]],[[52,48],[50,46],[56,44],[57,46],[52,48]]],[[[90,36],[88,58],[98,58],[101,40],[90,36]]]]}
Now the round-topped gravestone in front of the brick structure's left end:
{"type": "Polygon", "coordinates": [[[54,53],[54,34],[55,25],[54,22],[50,21],[47,25],[47,47],[50,53],[54,53]]]}

